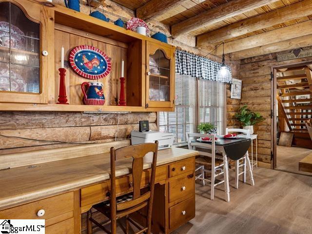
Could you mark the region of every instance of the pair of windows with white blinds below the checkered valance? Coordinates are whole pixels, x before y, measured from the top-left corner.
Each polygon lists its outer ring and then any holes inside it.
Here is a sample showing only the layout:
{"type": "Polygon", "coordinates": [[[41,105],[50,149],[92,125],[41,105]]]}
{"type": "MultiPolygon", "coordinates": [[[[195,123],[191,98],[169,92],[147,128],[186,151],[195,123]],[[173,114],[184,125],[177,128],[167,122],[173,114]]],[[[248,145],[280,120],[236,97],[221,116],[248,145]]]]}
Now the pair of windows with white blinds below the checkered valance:
{"type": "Polygon", "coordinates": [[[218,134],[225,132],[225,84],[204,79],[198,87],[196,83],[196,78],[176,74],[175,112],[158,114],[159,131],[175,134],[175,145],[187,142],[186,133],[197,132],[198,120],[214,124],[218,134]]]}

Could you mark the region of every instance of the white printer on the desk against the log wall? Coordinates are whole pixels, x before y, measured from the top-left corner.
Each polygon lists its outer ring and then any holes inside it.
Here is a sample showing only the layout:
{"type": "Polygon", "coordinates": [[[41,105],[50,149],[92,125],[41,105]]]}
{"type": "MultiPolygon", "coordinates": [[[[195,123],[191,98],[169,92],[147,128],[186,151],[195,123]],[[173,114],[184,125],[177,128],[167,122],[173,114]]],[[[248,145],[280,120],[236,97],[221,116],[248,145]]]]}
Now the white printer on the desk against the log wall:
{"type": "Polygon", "coordinates": [[[154,143],[158,140],[158,150],[171,148],[174,143],[174,135],[172,133],[161,133],[155,131],[148,132],[131,132],[131,144],[137,145],[142,143],[154,143]]]}

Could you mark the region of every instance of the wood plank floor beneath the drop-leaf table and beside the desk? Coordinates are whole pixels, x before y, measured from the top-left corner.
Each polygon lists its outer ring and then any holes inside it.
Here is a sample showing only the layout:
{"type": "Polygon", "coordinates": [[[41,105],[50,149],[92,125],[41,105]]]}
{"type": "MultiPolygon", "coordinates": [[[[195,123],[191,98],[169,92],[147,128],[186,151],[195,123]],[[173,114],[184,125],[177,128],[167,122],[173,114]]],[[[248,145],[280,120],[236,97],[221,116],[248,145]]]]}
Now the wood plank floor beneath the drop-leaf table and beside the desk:
{"type": "Polygon", "coordinates": [[[254,179],[238,190],[232,179],[230,202],[222,190],[210,200],[209,187],[196,184],[196,216],[174,234],[312,234],[311,176],[257,168],[254,179]]]}

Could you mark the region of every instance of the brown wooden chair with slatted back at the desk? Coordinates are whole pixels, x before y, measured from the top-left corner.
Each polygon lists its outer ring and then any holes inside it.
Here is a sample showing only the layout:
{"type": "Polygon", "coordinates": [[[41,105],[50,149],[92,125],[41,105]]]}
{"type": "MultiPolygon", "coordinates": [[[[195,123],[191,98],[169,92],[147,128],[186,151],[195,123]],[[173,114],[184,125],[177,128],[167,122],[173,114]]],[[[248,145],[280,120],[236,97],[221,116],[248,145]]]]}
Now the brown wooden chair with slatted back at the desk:
{"type": "Polygon", "coordinates": [[[100,224],[98,221],[93,219],[91,210],[88,212],[87,217],[87,230],[88,234],[92,234],[92,223],[96,224],[100,229],[108,234],[116,234],[117,229],[117,219],[125,217],[125,227],[121,226],[124,233],[128,234],[129,231],[129,221],[139,229],[136,234],[146,232],[151,233],[151,222],[152,222],[152,207],[153,207],[153,196],[154,196],[154,185],[155,185],[155,175],[156,175],[156,161],[157,161],[157,149],[158,141],[155,143],[145,143],[138,145],[126,146],[115,150],[114,147],[111,148],[111,191],[110,200],[94,205],[93,208],[106,215],[109,219],[100,224]],[[143,157],[149,153],[153,152],[153,162],[152,170],[150,176],[150,183],[148,186],[148,191],[141,194],[141,178],[143,174],[143,157]],[[133,192],[131,194],[116,196],[116,167],[115,161],[125,158],[133,158],[132,161],[132,176],[133,182],[130,184],[133,187],[133,192]],[[142,228],[134,220],[132,220],[129,215],[139,211],[143,207],[147,206],[147,215],[144,217],[146,219],[146,227],[142,228]],[[104,225],[111,223],[111,231],[104,227],[104,225]]]}

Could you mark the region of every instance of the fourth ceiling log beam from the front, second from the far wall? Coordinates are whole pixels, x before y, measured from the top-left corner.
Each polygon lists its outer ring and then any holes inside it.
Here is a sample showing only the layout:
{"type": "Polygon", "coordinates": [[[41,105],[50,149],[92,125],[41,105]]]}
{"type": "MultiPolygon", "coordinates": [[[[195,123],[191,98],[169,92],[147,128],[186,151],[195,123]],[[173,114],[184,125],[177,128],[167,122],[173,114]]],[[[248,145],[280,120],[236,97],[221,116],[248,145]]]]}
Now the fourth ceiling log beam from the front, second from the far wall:
{"type": "MultiPolygon", "coordinates": [[[[311,34],[312,20],[297,23],[291,26],[279,28],[273,31],[261,33],[252,37],[230,41],[224,44],[225,54],[251,49],[258,46],[280,42],[288,39],[294,39],[311,34]]],[[[197,47],[205,48],[208,43],[198,43],[197,47]]],[[[222,55],[222,46],[220,46],[216,55],[222,55]]]]}

